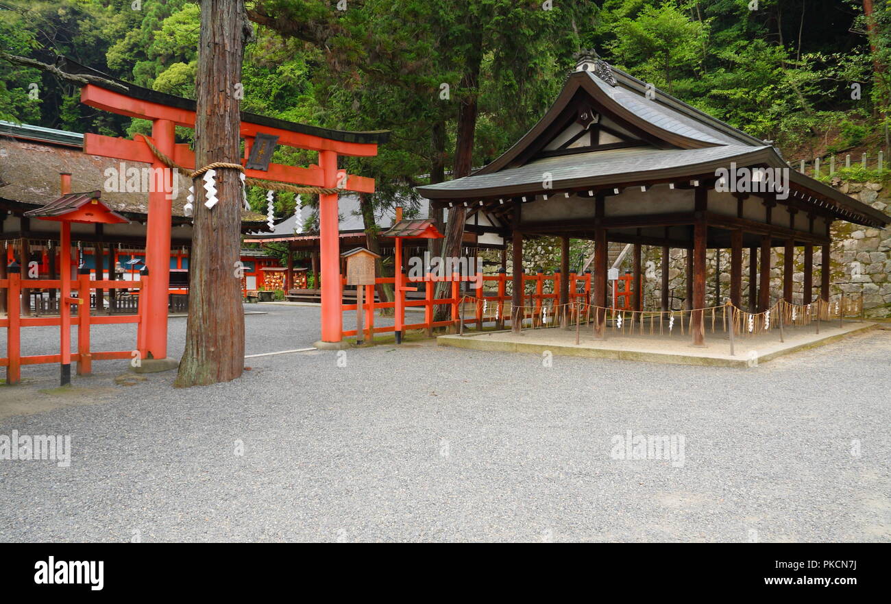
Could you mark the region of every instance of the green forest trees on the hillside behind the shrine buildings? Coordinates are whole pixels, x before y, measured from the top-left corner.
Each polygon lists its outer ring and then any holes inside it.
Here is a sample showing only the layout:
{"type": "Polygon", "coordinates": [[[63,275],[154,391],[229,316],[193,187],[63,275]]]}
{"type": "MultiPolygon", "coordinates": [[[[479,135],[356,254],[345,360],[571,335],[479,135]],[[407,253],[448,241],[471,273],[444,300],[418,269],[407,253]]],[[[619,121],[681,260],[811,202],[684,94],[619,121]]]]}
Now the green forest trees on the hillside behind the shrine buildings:
{"type": "MultiPolygon", "coordinates": [[[[348,166],[378,179],[368,201],[376,207],[411,194],[419,182],[467,174],[494,159],[541,117],[573,54],[588,48],[773,141],[787,159],[887,153],[887,0],[247,5],[256,35],[245,53],[242,109],[323,127],[391,130],[378,157],[348,166]]],[[[189,0],[0,0],[0,51],[51,63],[65,55],[193,98],[199,13],[200,3],[189,0]]],[[[76,85],[2,58],[0,118],[106,135],[147,132],[139,120],[81,105],[76,85]]],[[[181,135],[187,140],[190,131],[181,135]]],[[[283,214],[293,200],[282,197],[283,214]]]]}

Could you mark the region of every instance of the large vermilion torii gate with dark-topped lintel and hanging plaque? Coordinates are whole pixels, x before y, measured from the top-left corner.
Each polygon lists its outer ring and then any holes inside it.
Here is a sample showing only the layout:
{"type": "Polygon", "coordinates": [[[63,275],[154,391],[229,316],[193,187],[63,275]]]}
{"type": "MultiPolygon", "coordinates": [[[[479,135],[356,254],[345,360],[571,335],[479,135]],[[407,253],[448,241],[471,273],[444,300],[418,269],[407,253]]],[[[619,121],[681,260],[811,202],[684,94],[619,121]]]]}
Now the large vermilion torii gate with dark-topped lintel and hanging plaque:
{"type": "MultiPolygon", "coordinates": [[[[195,155],[187,144],[176,143],[176,126],[195,127],[194,102],[168,94],[127,84],[127,93],[102,86],[88,84],[81,89],[80,101],[95,107],[126,115],[131,118],[151,120],[151,142],[185,169],[195,169],[195,155]]],[[[274,135],[278,144],[319,152],[319,164],[310,167],[269,164],[267,170],[245,168],[249,178],[276,181],[285,184],[342,188],[345,191],[374,192],[374,179],[347,175],[338,171],[338,156],[369,157],[377,155],[378,145],[386,141],[386,133],[353,133],[324,128],[307,127],[272,118],[242,114],[241,136],[245,140],[246,163],[250,147],[257,135],[274,135]],[[290,127],[293,127],[291,129],[290,127]],[[307,130],[309,132],[307,132],[307,130]],[[342,139],[342,140],[338,140],[342,139]],[[350,140],[352,139],[352,140],[350,140]]],[[[102,135],[84,135],[84,151],[102,157],[151,163],[161,168],[165,187],[171,191],[167,166],[155,156],[146,142],[131,141],[102,135]]],[[[175,176],[174,176],[175,177],[175,176]]],[[[157,188],[157,187],[155,187],[157,188]]],[[[168,192],[149,192],[148,229],[146,233],[145,265],[151,274],[151,285],[143,293],[141,304],[143,321],[139,323],[139,342],[143,358],[167,358],[168,289],[170,265],[170,213],[171,200],[168,192]]],[[[322,339],[321,344],[341,341],[342,319],[340,312],[339,279],[339,218],[338,195],[320,195],[319,236],[321,246],[322,283],[322,339]]]]}

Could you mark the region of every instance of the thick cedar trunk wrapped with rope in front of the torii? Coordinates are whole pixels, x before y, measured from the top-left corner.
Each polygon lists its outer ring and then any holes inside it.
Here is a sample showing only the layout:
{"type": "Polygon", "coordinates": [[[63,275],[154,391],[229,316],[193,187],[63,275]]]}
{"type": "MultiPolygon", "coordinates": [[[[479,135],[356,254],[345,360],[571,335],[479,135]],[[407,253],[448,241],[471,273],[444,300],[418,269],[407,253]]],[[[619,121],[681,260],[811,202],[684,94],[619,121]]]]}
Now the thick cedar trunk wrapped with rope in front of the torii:
{"type": "MultiPolygon", "coordinates": [[[[241,58],[249,23],[243,0],[201,0],[196,92],[195,165],[239,163],[241,58]]],[[[241,306],[241,178],[217,170],[217,205],[204,206],[204,181],[195,189],[189,319],[176,386],[234,380],[244,369],[241,306]]]]}

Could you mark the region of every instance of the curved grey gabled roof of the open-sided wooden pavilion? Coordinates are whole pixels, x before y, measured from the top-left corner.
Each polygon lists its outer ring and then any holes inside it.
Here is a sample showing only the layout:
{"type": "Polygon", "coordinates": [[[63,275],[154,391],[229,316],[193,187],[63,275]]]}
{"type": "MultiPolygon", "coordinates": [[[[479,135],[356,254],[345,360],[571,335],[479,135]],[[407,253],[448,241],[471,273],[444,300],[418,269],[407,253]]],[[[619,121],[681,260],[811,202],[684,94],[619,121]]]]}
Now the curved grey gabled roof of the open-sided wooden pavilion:
{"type": "MultiPolygon", "coordinates": [[[[551,109],[497,159],[471,175],[421,186],[418,192],[429,200],[498,203],[499,198],[521,195],[681,181],[714,175],[717,168],[732,162],[789,168],[770,142],[597,61],[593,70],[585,66],[570,74],[551,109]],[[628,142],[601,148],[561,146],[559,151],[545,151],[560,124],[575,118],[573,110],[579,106],[590,106],[633,135],[628,142]],[[545,180],[550,181],[548,186],[545,180]]],[[[884,212],[791,168],[789,185],[804,200],[819,201],[838,218],[874,226],[891,223],[884,212]]]]}

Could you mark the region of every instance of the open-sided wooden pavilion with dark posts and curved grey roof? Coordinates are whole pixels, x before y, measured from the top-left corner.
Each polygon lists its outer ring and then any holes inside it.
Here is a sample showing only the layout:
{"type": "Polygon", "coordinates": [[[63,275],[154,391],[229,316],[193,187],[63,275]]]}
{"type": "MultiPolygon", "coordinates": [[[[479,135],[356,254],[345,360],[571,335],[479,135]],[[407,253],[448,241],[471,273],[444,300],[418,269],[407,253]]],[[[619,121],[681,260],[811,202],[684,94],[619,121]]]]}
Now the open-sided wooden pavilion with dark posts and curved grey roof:
{"type": "MultiPolygon", "coordinates": [[[[833,221],[879,228],[891,222],[883,212],[789,168],[771,142],[611,67],[596,53],[581,54],[551,109],[503,155],[472,175],[418,191],[435,207],[478,205],[510,225],[515,308],[522,306],[518,269],[524,238],[559,236],[563,274],[569,239],[593,240],[591,304],[601,309],[607,306],[609,241],[634,245],[635,291],[642,284],[641,246],[662,247],[663,310],[669,250],[687,249],[695,345],[704,341],[707,249],[732,250],[730,300],[737,307],[743,294],[742,249],[749,249],[748,301],[760,312],[771,305],[772,248],[786,252],[781,293],[786,301],[792,296],[794,248],[805,248],[806,305],[813,291],[814,246],[822,247],[820,295],[829,297],[825,267],[833,221]]],[[[560,304],[568,301],[566,279],[559,298],[560,304]]],[[[637,310],[641,300],[636,297],[637,310]]],[[[519,322],[513,325],[519,330],[519,322]]]]}

